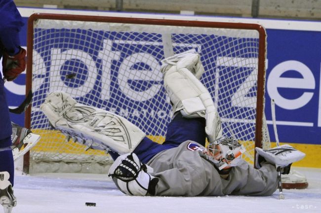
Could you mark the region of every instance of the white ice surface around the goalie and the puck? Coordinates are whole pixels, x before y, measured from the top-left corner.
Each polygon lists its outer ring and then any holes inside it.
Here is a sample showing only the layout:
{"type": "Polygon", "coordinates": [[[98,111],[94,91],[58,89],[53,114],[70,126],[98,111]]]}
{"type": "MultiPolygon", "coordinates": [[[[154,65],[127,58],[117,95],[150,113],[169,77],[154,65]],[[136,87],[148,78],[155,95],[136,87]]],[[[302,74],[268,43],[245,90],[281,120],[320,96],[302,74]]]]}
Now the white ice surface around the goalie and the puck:
{"type": "Polygon", "coordinates": [[[278,191],[271,197],[133,197],[107,175],[16,174],[12,213],[321,213],[321,169],[294,169],[307,176],[309,187],[284,190],[285,200],[278,191]]]}

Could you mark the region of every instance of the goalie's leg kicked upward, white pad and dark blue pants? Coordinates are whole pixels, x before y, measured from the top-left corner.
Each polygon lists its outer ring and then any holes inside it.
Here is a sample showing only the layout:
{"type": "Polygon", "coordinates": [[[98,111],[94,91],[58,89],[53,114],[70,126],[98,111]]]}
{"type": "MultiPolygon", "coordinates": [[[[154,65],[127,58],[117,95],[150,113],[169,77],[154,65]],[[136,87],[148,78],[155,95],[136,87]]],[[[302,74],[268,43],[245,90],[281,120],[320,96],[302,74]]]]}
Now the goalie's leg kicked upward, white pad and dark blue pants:
{"type": "Polygon", "coordinates": [[[167,128],[167,146],[192,140],[205,144],[222,135],[221,121],[213,100],[200,81],[204,68],[201,56],[187,51],[162,61],[164,87],[173,106],[173,121],[167,128]]]}

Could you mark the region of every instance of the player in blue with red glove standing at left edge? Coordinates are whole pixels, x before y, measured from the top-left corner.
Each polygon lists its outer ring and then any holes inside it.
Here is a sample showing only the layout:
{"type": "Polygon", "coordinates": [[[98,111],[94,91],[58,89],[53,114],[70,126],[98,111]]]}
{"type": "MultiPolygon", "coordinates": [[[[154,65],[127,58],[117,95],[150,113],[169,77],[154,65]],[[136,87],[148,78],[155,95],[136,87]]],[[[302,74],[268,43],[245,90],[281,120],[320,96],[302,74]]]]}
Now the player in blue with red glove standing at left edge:
{"type": "Polygon", "coordinates": [[[26,50],[21,48],[19,31],[22,18],[12,0],[0,0],[0,204],[5,213],[10,213],[16,205],[13,195],[14,165],[11,146],[11,122],[4,93],[4,80],[12,81],[26,68],[26,50]]]}

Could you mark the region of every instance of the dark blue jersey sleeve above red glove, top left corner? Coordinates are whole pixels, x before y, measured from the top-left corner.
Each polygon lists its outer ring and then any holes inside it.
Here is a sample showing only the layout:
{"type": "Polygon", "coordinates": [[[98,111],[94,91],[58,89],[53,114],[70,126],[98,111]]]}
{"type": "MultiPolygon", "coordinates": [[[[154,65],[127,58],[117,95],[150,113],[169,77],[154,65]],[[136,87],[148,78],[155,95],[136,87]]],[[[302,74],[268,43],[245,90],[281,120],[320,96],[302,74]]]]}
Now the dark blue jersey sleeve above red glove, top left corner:
{"type": "Polygon", "coordinates": [[[0,41],[9,55],[19,52],[22,17],[12,0],[0,0],[0,41]]]}

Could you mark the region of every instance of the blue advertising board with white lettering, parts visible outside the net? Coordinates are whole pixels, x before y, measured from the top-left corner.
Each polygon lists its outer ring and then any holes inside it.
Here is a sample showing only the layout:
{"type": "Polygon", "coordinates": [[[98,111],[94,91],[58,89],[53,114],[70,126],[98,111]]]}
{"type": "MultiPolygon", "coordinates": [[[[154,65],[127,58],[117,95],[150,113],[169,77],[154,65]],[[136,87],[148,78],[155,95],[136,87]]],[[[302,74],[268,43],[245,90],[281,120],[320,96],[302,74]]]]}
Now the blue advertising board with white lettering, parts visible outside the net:
{"type": "MultiPolygon", "coordinates": [[[[26,46],[27,18],[20,37],[26,46]]],[[[275,141],[270,102],[276,102],[279,139],[281,142],[321,144],[320,72],[321,32],[275,30],[267,31],[267,73],[265,114],[271,141],[275,141]]],[[[10,107],[24,99],[25,74],[15,82],[7,82],[10,107]]],[[[23,125],[24,115],[11,114],[23,125]]]]}

